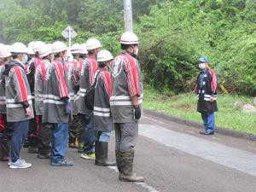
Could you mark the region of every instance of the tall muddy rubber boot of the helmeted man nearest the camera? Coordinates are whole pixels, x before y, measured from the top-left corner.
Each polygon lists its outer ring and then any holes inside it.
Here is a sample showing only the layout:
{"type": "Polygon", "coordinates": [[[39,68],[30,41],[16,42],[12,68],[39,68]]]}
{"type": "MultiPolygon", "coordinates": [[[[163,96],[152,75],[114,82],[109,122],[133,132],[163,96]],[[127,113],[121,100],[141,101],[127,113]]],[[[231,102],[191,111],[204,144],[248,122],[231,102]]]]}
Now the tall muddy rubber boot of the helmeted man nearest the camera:
{"type": "Polygon", "coordinates": [[[134,150],[120,151],[120,169],[119,180],[124,182],[143,182],[144,178],[137,176],[132,172],[134,150]]]}

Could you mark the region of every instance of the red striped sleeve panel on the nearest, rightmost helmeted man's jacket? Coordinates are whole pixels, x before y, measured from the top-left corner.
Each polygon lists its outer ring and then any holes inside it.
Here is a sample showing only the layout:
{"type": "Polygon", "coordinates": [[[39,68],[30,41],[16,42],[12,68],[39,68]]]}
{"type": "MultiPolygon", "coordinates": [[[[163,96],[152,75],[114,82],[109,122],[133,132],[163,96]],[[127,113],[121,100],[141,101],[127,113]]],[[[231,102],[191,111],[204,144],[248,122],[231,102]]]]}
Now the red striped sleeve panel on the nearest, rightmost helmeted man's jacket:
{"type": "Polygon", "coordinates": [[[129,88],[130,96],[137,96],[138,89],[138,77],[137,66],[134,58],[131,55],[123,55],[125,61],[125,72],[127,73],[127,84],[129,88]]]}

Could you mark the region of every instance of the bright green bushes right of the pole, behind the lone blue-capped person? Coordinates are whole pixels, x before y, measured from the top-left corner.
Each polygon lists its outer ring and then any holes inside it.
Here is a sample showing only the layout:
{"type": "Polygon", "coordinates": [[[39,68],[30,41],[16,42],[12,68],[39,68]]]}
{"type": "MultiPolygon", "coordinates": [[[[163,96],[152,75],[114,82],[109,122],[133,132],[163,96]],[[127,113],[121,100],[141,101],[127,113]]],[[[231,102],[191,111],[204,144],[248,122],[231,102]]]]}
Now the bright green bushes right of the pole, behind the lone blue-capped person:
{"type": "Polygon", "coordinates": [[[256,95],[255,1],[165,1],[140,18],[146,80],[160,89],[186,90],[207,55],[230,93],[256,95]],[[154,77],[154,79],[152,79],[154,77]]]}

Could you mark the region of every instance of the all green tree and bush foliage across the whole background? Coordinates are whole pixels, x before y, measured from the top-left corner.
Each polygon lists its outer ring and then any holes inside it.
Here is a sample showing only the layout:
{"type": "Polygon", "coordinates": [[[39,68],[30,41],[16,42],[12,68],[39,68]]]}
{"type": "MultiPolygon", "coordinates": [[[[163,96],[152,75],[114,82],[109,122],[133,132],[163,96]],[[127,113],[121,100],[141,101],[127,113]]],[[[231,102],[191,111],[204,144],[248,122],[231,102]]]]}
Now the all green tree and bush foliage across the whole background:
{"type": "MultiPolygon", "coordinates": [[[[0,42],[63,40],[61,31],[71,25],[79,34],[73,42],[96,37],[116,55],[122,6],[119,0],[0,0],[0,42]]],[[[206,55],[227,90],[256,95],[255,0],[133,1],[133,16],[148,84],[188,90],[197,58],[206,55]]]]}

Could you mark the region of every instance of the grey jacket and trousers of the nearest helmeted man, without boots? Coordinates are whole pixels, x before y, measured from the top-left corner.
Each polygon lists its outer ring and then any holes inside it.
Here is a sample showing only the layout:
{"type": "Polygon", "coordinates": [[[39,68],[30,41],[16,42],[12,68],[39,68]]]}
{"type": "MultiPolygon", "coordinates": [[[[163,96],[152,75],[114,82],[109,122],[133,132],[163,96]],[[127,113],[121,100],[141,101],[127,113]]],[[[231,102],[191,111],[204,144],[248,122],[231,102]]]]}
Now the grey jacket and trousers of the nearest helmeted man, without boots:
{"type": "MultiPolygon", "coordinates": [[[[129,151],[136,146],[138,123],[134,119],[132,96],[143,102],[143,79],[140,64],[129,52],[122,51],[111,70],[110,108],[113,117],[116,150],[129,151]]],[[[140,106],[140,108],[142,108],[140,106]]]]}

